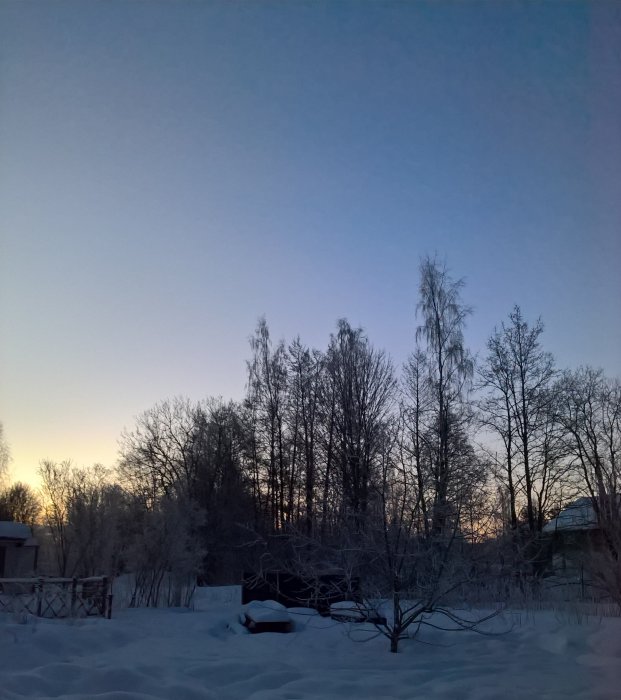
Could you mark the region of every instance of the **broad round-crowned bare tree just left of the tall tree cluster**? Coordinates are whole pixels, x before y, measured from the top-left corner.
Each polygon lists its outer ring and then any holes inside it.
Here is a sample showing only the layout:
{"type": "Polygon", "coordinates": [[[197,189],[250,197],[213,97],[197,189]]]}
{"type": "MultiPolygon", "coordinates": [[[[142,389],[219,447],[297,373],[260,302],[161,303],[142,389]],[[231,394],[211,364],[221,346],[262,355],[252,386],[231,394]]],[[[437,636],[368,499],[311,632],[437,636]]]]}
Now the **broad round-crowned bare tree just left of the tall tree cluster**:
{"type": "Polygon", "coordinates": [[[205,552],[201,576],[210,580],[234,566],[236,527],[252,511],[252,473],[244,473],[248,424],[242,413],[221,399],[176,398],[144,412],[121,441],[119,477],[145,513],[160,512],[162,499],[175,496],[205,513],[193,537],[205,552]]]}

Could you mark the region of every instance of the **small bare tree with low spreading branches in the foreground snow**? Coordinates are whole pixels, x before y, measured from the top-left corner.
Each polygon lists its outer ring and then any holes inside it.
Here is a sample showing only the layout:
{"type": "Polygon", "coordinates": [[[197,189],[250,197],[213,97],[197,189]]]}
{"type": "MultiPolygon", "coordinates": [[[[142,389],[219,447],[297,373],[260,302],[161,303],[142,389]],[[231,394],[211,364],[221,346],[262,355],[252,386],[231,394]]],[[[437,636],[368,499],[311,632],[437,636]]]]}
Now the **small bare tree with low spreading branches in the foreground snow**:
{"type": "MultiPolygon", "coordinates": [[[[393,414],[377,435],[376,474],[370,484],[374,507],[364,531],[350,520],[342,522],[331,545],[295,538],[292,546],[289,543],[294,555],[278,562],[305,581],[317,579],[321,565],[333,564],[348,583],[341,584],[339,592],[349,588],[354,598],[350,608],[340,607],[335,614],[372,623],[389,640],[393,653],[410,637],[410,628],[426,624],[431,614],[444,615],[455,630],[476,630],[495,614],[467,618],[454,608],[477,591],[472,559],[464,557],[463,546],[455,546],[463,540],[459,518],[452,520],[450,533],[445,528],[442,541],[421,532],[424,499],[417,493],[410,464],[402,459],[402,423],[403,416],[393,414]]],[[[464,484],[458,488],[461,497],[465,489],[464,484]]]]}

